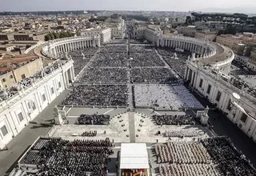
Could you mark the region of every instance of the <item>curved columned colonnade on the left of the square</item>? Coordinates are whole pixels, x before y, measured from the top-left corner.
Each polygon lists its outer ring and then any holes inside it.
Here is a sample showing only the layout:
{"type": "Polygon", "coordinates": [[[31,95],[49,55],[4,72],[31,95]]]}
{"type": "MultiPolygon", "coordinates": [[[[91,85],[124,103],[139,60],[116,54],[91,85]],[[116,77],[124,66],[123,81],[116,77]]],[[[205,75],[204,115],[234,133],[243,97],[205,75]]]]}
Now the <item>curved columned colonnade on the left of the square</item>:
{"type": "Polygon", "coordinates": [[[100,35],[60,38],[42,44],[42,54],[57,59],[62,53],[101,46],[100,35]]]}

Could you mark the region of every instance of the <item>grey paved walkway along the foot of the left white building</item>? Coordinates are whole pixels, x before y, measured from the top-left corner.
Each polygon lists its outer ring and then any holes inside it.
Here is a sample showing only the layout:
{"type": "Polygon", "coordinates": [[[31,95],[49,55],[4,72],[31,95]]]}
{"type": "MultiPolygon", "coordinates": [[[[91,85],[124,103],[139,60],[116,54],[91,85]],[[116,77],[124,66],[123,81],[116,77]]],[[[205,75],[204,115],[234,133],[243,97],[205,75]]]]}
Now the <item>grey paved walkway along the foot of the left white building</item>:
{"type": "Polygon", "coordinates": [[[8,175],[18,162],[19,157],[27,148],[41,135],[46,135],[51,126],[39,125],[41,122],[50,122],[53,119],[54,106],[66,97],[69,90],[64,90],[42,113],[34,118],[34,122],[38,124],[28,124],[20,134],[7,145],[8,150],[0,151],[0,175],[8,175]],[[13,165],[14,164],[14,165],[13,165]],[[7,173],[6,173],[7,172],[7,173]]]}

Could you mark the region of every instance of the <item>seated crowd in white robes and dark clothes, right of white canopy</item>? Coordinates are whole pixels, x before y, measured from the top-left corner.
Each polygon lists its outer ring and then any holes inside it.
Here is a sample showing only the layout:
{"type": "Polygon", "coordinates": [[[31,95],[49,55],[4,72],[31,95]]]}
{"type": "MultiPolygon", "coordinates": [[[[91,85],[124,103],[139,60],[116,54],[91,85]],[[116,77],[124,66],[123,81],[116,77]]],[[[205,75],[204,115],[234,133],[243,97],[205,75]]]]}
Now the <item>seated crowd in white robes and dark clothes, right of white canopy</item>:
{"type": "Polygon", "coordinates": [[[161,176],[256,174],[256,170],[226,137],[156,144],[155,152],[161,176]]]}

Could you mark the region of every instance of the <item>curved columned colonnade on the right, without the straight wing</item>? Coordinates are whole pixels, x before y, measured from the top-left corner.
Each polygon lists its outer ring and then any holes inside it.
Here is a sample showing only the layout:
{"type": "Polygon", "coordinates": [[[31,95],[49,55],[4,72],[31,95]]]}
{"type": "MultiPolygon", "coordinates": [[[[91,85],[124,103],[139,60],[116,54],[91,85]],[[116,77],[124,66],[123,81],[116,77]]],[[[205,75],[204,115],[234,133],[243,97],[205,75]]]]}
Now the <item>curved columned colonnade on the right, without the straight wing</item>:
{"type": "Polygon", "coordinates": [[[189,50],[193,54],[188,60],[198,61],[201,66],[218,68],[226,74],[230,72],[231,62],[234,59],[233,51],[226,46],[198,38],[159,35],[157,46],[189,50]]]}

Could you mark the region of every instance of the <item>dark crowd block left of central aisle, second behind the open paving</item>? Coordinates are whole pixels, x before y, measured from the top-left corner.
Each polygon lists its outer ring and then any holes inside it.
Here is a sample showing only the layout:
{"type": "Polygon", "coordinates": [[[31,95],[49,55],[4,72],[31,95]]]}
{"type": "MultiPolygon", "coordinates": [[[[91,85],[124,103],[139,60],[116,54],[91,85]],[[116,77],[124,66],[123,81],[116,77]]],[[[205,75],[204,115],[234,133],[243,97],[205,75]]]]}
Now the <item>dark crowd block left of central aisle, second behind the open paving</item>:
{"type": "Polygon", "coordinates": [[[79,82],[86,83],[128,83],[128,70],[125,68],[88,68],[79,82]]]}

